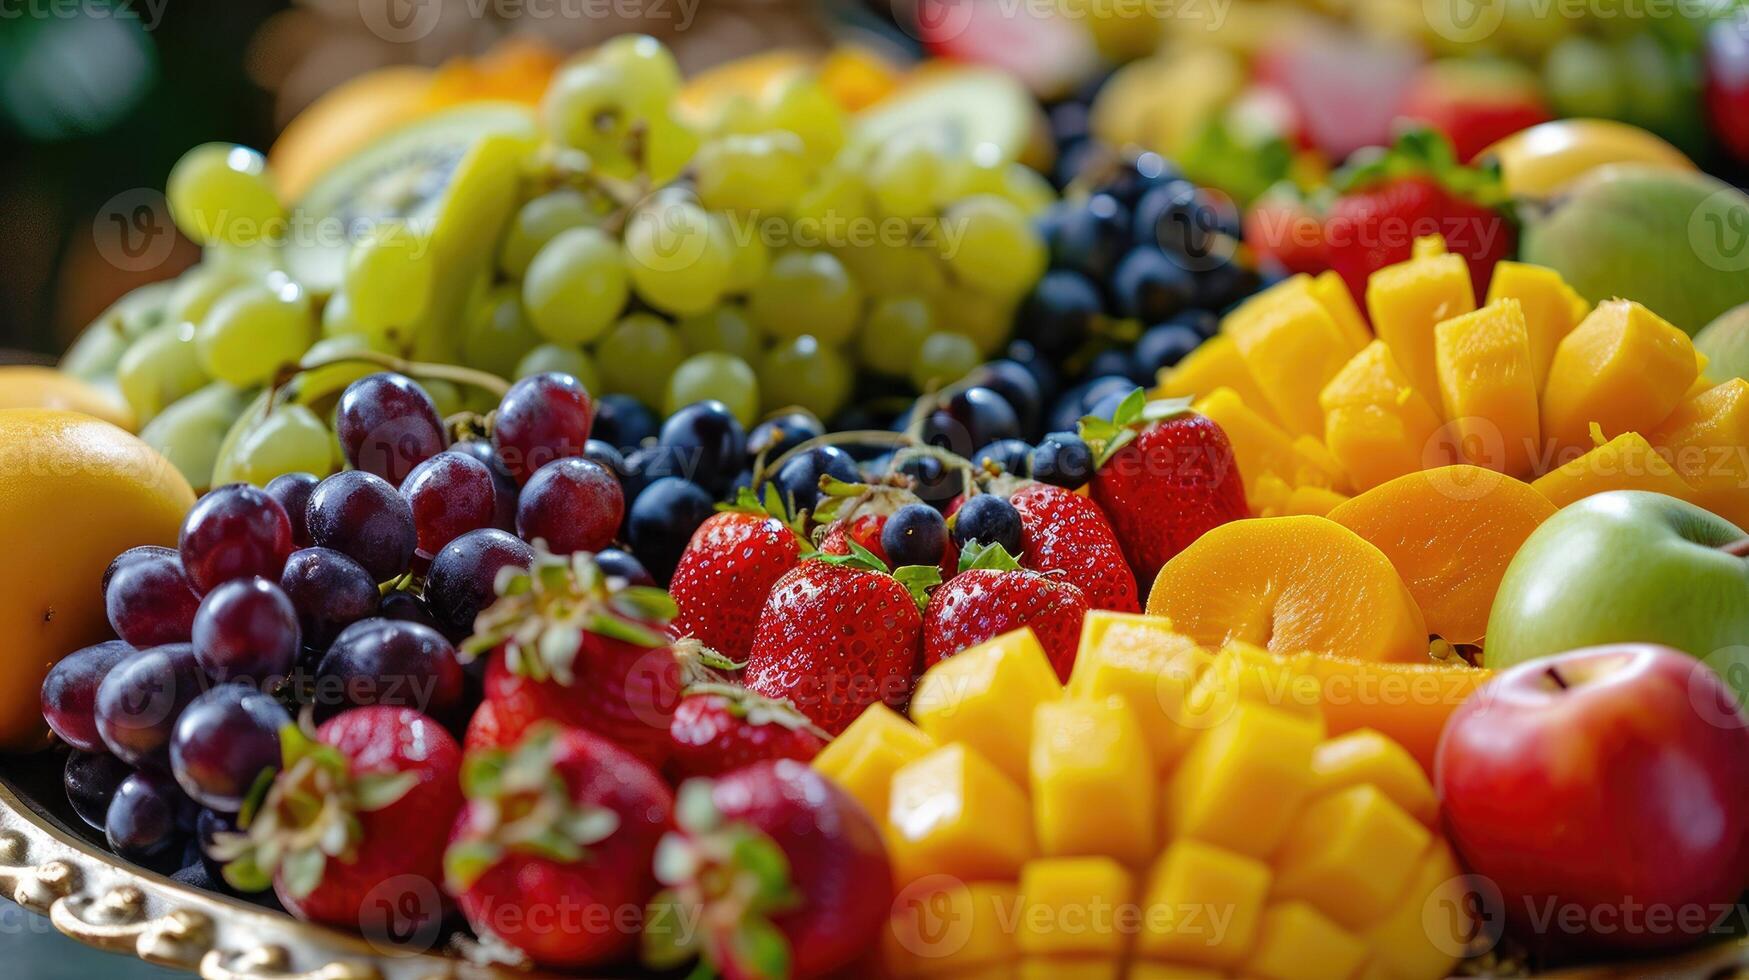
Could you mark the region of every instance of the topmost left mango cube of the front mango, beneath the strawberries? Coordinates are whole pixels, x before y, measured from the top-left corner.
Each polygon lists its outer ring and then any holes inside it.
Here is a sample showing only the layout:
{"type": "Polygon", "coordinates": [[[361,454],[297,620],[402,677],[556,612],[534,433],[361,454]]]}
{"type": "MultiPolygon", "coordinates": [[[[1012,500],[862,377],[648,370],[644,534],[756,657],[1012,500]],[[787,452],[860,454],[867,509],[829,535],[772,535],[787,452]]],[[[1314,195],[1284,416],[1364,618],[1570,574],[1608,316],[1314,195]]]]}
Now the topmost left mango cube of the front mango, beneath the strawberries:
{"type": "Polygon", "coordinates": [[[965,742],[1027,786],[1032,709],[1062,693],[1039,637],[1023,626],[930,667],[911,696],[911,718],[936,744],[965,742]]]}

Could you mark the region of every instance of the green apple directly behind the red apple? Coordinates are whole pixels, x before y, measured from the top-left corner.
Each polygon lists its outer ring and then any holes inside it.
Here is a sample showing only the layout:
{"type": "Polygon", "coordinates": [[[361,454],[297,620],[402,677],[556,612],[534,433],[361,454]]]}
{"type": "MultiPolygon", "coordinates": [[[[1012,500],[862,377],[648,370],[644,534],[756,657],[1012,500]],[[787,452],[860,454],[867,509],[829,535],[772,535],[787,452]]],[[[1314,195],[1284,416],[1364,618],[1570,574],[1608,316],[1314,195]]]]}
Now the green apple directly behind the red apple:
{"type": "Polygon", "coordinates": [[[1613,642],[1674,646],[1749,695],[1749,560],[1737,525],[1686,500],[1614,490],[1543,522],[1488,612],[1494,670],[1613,642]]]}

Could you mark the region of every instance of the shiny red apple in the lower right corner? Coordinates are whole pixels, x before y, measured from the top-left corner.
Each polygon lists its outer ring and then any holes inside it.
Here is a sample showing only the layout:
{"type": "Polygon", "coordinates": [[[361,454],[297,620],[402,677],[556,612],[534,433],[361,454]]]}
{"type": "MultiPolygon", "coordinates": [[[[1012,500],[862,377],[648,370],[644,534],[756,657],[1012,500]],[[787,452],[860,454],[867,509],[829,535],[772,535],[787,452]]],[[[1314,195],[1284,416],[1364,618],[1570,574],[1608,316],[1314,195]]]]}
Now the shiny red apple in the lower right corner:
{"type": "Polygon", "coordinates": [[[1452,714],[1434,782],[1452,844],[1539,952],[1683,945],[1749,884],[1749,716],[1665,646],[1506,670],[1452,714]]]}

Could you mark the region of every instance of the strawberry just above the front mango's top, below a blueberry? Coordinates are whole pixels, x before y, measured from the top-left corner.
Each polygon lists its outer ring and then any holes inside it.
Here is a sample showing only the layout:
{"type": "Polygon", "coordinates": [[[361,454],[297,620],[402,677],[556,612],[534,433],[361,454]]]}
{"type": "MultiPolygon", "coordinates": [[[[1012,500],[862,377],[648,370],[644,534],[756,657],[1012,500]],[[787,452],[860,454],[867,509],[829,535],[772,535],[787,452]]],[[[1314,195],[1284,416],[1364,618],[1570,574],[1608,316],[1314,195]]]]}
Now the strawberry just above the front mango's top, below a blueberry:
{"type": "Polygon", "coordinates": [[[960,574],[941,584],[923,609],[923,665],[1032,626],[1056,679],[1069,682],[1086,614],[1086,595],[1063,576],[1025,570],[1000,544],[969,542],[960,574]]]}

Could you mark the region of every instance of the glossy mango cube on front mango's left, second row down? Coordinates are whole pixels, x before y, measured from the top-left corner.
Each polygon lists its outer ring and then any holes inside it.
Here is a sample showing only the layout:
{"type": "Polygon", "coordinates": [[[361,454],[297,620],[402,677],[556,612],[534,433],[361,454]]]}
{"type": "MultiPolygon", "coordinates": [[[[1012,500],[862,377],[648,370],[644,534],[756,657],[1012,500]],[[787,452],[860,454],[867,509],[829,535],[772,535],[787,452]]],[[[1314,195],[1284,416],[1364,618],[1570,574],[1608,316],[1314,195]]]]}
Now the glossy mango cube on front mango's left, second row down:
{"type": "Polygon", "coordinates": [[[923,875],[1011,880],[1037,852],[1027,794],[962,742],[894,774],[887,824],[901,884],[923,875]]]}

